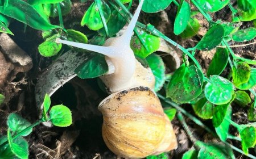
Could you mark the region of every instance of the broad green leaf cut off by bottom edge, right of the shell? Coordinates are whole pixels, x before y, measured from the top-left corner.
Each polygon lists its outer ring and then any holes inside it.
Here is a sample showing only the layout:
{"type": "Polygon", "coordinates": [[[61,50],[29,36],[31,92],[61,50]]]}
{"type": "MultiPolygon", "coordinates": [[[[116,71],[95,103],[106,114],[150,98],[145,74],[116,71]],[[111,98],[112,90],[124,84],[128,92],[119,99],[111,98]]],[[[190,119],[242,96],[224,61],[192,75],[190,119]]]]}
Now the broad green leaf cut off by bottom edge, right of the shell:
{"type": "Polygon", "coordinates": [[[201,141],[196,141],[199,150],[199,159],[235,159],[232,149],[220,144],[207,144],[201,141]]]}

